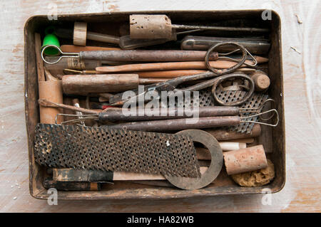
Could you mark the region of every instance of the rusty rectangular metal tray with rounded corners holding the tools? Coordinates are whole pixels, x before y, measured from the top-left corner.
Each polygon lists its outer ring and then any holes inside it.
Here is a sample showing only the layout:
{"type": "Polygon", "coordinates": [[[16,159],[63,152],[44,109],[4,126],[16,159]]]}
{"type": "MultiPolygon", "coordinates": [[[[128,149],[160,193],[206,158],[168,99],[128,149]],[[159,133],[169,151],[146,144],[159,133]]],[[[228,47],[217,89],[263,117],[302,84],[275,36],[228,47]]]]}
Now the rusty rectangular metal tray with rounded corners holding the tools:
{"type": "MultiPolygon", "coordinates": [[[[270,189],[271,193],[280,191],[285,185],[285,119],[283,104],[283,75],[281,50],[281,21],[280,16],[271,11],[271,20],[263,21],[262,10],[245,11],[139,11],[139,14],[167,14],[172,21],[194,23],[202,21],[255,21],[258,26],[270,28],[271,48],[268,53],[269,63],[267,73],[271,84],[268,94],[277,103],[280,123],[275,128],[262,127],[263,133],[257,142],[263,144],[268,152],[267,157],[275,164],[275,179],[265,186],[241,187],[233,182],[221,171],[217,179],[209,186],[193,190],[181,190],[161,186],[147,186],[130,182],[116,182],[106,184],[101,191],[58,191],[58,198],[64,200],[94,200],[94,199],[170,199],[193,196],[220,196],[236,194],[261,194],[263,189],[270,189]]],[[[26,132],[29,149],[29,189],[31,196],[36,199],[46,199],[49,194],[42,185],[45,169],[36,164],[34,159],[34,129],[39,122],[38,83],[36,76],[36,55],[34,52],[34,32],[44,31],[49,24],[73,24],[73,21],[87,21],[91,28],[99,29],[102,33],[119,35],[118,27],[128,21],[130,14],[138,12],[113,12],[103,14],[71,14],[60,15],[58,20],[49,21],[47,16],[33,16],[26,21],[24,27],[24,62],[25,62],[25,109],[26,132]]],[[[226,26],[229,24],[226,23],[226,26]]],[[[94,43],[89,43],[94,44],[94,43]]],[[[266,191],[265,191],[266,192],[266,191]]]]}

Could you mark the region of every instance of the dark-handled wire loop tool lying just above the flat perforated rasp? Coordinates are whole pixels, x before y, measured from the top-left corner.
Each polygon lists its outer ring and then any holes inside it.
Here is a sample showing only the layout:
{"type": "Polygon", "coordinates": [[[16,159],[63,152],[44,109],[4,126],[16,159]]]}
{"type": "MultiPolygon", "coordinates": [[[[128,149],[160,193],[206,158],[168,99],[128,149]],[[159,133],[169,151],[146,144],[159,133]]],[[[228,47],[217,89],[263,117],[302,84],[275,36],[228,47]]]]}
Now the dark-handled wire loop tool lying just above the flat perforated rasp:
{"type": "Polygon", "coordinates": [[[238,116],[226,116],[226,117],[199,117],[199,118],[180,118],[175,120],[151,120],[141,122],[126,122],[119,123],[116,125],[103,125],[103,128],[108,129],[126,129],[133,131],[146,131],[146,132],[168,132],[168,131],[179,131],[179,130],[190,130],[190,129],[204,129],[211,127],[223,127],[230,125],[239,125],[242,122],[251,122],[260,125],[267,125],[276,127],[279,122],[277,110],[267,110],[256,115],[250,115],[248,117],[238,116]],[[265,115],[269,112],[274,112],[277,116],[275,124],[268,124],[265,122],[254,122],[247,120],[250,117],[257,117],[265,115]]]}

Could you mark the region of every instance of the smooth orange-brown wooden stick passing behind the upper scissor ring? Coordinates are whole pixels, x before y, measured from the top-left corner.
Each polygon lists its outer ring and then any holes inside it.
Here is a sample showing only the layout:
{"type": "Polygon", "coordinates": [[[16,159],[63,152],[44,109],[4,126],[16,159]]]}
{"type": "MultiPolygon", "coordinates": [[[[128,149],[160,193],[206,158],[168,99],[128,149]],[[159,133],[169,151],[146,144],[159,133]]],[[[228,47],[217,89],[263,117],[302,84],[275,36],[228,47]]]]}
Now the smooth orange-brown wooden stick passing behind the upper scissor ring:
{"type": "MultiPolygon", "coordinates": [[[[255,57],[258,63],[267,62],[267,58],[255,57]]],[[[177,60],[174,60],[177,61],[177,60]]],[[[245,60],[245,63],[250,63],[250,60],[245,60]]],[[[210,61],[210,66],[213,68],[230,68],[236,65],[235,62],[229,60],[210,61]]],[[[246,65],[242,65],[245,67],[246,65]]],[[[96,71],[101,73],[119,73],[133,71],[149,71],[149,70],[205,70],[207,69],[204,61],[188,61],[188,62],[170,62],[170,63],[143,63],[143,64],[128,64],[117,66],[98,66],[96,71]]]]}

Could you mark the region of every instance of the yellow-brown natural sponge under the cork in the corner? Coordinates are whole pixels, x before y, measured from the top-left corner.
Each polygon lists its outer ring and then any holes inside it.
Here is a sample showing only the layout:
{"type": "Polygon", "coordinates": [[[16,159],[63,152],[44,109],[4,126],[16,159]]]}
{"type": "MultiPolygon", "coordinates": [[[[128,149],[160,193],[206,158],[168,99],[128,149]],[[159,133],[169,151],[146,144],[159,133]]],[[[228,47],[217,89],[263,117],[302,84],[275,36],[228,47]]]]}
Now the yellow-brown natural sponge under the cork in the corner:
{"type": "Polygon", "coordinates": [[[233,180],[240,186],[253,187],[263,186],[270,183],[275,176],[274,164],[267,159],[267,167],[255,171],[248,171],[242,174],[231,175],[233,180]]]}

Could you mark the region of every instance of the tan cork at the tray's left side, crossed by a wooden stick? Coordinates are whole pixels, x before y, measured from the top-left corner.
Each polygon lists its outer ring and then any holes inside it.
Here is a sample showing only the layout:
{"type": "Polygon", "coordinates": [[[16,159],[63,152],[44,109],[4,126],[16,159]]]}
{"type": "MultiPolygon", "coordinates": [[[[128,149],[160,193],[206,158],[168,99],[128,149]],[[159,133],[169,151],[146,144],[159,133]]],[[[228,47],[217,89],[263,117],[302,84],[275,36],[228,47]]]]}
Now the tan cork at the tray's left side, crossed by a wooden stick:
{"type": "MultiPolygon", "coordinates": [[[[63,103],[63,92],[61,80],[39,81],[39,99],[44,98],[51,102],[63,103]]],[[[56,107],[39,106],[40,122],[44,124],[56,124],[56,115],[61,113],[61,110],[56,107]]],[[[63,120],[59,116],[57,123],[63,120]]]]}

